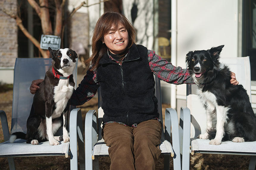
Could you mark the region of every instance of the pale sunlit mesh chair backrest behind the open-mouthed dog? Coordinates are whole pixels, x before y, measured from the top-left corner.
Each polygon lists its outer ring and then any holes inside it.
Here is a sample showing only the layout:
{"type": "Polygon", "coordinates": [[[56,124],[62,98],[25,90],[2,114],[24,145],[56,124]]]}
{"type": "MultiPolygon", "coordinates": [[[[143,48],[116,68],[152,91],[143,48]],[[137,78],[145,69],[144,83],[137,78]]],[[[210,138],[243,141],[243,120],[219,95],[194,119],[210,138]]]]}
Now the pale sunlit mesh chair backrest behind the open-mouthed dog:
{"type": "MultiPolygon", "coordinates": [[[[235,73],[239,84],[247,90],[251,100],[251,72],[249,57],[220,58],[220,62],[230,68],[235,73]]],[[[191,138],[205,133],[206,130],[206,111],[196,95],[196,85],[187,85],[187,107],[191,112],[191,138]]]]}

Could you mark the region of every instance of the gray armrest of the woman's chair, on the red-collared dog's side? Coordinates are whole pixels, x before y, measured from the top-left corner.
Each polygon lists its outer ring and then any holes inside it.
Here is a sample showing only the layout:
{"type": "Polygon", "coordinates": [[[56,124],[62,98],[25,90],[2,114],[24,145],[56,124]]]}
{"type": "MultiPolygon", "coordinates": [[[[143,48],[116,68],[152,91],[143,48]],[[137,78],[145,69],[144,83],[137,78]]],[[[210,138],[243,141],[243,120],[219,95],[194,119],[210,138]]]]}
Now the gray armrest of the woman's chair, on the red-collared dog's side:
{"type": "Polygon", "coordinates": [[[85,165],[92,167],[92,150],[97,142],[96,110],[89,110],[85,116],[85,165]],[[88,160],[88,161],[87,161],[88,160]]]}

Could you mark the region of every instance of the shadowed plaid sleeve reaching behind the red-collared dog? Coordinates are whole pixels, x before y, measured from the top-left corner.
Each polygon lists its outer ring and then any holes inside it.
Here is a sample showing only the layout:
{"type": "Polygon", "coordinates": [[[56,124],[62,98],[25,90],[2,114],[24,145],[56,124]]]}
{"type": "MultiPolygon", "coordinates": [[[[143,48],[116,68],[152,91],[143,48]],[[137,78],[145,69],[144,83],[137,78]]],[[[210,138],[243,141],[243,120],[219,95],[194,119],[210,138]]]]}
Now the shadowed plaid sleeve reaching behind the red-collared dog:
{"type": "Polygon", "coordinates": [[[77,89],[74,90],[69,103],[73,106],[84,104],[96,94],[98,88],[99,82],[96,78],[96,71],[89,69],[77,89]]]}

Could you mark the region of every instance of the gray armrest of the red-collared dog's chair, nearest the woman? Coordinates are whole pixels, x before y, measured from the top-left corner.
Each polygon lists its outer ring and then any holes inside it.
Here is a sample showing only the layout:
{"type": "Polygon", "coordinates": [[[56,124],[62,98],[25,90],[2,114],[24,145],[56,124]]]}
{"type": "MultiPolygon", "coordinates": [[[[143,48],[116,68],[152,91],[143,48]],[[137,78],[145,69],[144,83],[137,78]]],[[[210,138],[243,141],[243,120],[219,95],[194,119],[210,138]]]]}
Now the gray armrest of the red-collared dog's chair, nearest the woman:
{"type": "Polygon", "coordinates": [[[71,159],[76,159],[76,161],[70,161],[71,167],[74,167],[74,169],[77,169],[77,145],[78,145],[80,169],[84,169],[85,148],[84,148],[84,137],[83,137],[83,128],[82,128],[82,113],[80,108],[73,109],[70,112],[69,136],[70,136],[71,159]]]}

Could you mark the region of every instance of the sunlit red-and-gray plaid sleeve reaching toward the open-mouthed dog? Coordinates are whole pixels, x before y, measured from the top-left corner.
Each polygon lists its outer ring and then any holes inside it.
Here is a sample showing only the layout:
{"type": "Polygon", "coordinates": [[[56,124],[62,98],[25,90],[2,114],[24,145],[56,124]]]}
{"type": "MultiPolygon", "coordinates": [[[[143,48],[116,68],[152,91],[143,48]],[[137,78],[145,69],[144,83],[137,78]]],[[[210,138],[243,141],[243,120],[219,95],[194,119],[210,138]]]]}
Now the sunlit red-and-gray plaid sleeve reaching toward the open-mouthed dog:
{"type": "Polygon", "coordinates": [[[148,50],[148,60],[150,69],[160,80],[176,85],[193,84],[188,69],[173,66],[171,62],[161,58],[152,50],[148,50]]]}

